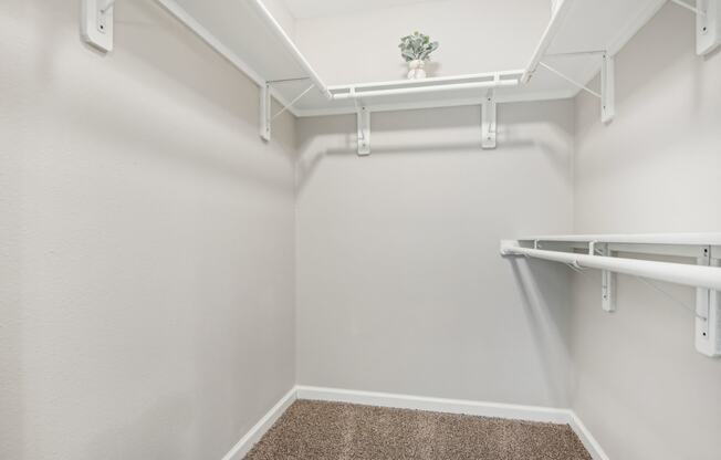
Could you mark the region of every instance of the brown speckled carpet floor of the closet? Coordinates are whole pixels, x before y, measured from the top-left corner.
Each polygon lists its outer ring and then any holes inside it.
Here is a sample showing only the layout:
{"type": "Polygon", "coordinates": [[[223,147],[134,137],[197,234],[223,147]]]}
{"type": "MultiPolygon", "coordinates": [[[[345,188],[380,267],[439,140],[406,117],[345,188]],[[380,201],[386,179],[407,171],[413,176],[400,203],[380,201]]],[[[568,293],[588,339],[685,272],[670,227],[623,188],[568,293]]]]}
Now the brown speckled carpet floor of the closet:
{"type": "Polygon", "coordinates": [[[295,401],[245,460],[591,460],[567,425],[295,401]]]}

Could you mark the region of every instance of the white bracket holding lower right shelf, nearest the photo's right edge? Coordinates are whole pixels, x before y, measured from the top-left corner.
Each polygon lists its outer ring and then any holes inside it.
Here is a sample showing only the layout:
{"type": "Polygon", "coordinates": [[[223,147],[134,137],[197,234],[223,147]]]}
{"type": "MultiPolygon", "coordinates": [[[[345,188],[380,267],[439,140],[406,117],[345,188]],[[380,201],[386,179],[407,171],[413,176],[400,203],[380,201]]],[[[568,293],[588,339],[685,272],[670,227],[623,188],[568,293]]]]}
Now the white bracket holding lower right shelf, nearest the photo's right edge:
{"type": "MultiPolygon", "coordinates": [[[[721,266],[720,259],[711,257],[711,248],[701,249],[697,259],[699,265],[721,266]]],[[[721,293],[696,290],[696,349],[710,357],[721,356],[721,293]]]]}

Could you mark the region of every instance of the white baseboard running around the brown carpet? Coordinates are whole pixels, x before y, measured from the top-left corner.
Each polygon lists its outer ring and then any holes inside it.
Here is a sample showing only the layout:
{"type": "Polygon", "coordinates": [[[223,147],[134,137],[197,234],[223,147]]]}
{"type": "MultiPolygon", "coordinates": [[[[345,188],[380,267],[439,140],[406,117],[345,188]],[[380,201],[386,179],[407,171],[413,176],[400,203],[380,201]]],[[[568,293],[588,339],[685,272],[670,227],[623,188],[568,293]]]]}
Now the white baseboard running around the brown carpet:
{"type": "Polygon", "coordinates": [[[398,409],[430,410],[446,414],[466,414],[512,420],[567,424],[594,460],[609,460],[600,445],[571,409],[512,404],[471,401],[463,399],[430,398],[390,393],[359,391],[338,388],[299,385],[291,389],[273,408],[242,437],[222,460],[241,460],[296,399],[349,402],[398,409]]]}

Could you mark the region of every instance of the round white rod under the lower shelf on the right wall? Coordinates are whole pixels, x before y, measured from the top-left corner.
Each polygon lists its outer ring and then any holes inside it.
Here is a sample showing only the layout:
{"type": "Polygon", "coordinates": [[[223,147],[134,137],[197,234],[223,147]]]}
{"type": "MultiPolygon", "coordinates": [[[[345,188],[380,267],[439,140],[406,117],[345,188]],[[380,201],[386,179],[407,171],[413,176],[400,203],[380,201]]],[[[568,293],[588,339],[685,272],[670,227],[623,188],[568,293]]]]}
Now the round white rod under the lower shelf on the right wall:
{"type": "Polygon", "coordinates": [[[515,244],[503,244],[501,247],[501,254],[527,255],[535,259],[570,264],[575,268],[608,270],[616,273],[667,281],[669,283],[721,291],[721,268],[715,266],[576,254],[572,252],[522,248],[515,244]]]}

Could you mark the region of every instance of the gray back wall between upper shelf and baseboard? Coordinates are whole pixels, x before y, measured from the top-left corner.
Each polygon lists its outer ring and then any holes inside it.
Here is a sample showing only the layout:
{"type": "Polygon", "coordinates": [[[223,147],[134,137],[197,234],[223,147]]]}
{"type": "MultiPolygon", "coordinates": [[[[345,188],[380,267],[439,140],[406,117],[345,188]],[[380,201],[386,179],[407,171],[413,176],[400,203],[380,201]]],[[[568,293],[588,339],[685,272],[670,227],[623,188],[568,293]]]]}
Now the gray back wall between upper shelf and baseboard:
{"type": "Polygon", "coordinates": [[[501,238],[568,232],[573,102],[297,121],[299,383],[567,406],[570,279],[501,238]],[[534,281],[535,280],[535,281],[534,281]]]}

